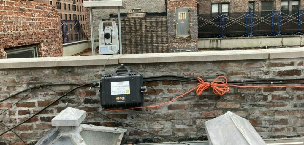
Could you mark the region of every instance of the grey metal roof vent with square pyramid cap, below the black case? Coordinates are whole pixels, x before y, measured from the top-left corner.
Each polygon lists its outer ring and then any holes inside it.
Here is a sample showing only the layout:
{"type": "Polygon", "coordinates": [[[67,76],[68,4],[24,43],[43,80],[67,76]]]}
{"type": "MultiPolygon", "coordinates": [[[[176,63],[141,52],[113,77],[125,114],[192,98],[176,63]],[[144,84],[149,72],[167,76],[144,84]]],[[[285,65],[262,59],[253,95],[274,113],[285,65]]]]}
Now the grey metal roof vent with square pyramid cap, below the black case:
{"type": "Polygon", "coordinates": [[[52,119],[55,128],[36,145],[120,145],[126,129],[80,124],[85,111],[67,107],[52,119]]]}

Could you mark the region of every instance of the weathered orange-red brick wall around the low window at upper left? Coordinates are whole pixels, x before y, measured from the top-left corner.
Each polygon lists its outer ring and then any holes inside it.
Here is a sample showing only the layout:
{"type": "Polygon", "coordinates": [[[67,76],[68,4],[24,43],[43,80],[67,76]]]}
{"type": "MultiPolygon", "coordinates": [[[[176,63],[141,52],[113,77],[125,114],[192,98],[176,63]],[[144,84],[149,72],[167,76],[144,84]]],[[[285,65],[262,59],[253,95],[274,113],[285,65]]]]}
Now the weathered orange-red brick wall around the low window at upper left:
{"type": "Polygon", "coordinates": [[[39,44],[39,57],[62,56],[60,13],[48,4],[0,1],[0,58],[5,48],[39,44]]]}

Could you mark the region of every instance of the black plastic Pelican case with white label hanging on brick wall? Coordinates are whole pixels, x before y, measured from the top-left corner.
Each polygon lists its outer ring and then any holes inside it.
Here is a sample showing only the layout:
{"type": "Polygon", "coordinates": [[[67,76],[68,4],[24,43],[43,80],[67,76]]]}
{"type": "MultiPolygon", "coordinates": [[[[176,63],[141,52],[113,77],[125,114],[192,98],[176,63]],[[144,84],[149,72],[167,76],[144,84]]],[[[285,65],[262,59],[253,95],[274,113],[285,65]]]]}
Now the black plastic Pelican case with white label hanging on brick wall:
{"type": "Polygon", "coordinates": [[[100,102],[104,108],[137,107],[143,104],[143,76],[132,73],[130,69],[114,70],[100,78],[100,102]],[[117,74],[125,72],[125,74],[117,74]]]}

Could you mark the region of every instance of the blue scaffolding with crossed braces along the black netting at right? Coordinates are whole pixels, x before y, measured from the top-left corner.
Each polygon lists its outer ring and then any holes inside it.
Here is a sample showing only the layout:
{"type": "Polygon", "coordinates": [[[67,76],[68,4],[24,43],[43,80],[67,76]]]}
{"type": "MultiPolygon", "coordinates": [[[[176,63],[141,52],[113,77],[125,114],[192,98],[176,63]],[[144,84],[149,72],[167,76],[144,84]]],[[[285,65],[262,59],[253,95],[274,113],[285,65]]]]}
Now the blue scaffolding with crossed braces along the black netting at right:
{"type": "Polygon", "coordinates": [[[256,15],[254,14],[254,12],[245,12],[244,15],[240,14],[240,16],[237,18],[232,18],[229,15],[226,15],[225,13],[221,13],[217,16],[212,15],[211,19],[198,16],[198,19],[202,20],[202,23],[198,25],[198,28],[202,28],[206,25],[213,25],[219,29],[219,35],[215,38],[225,38],[227,37],[225,31],[226,28],[233,24],[237,24],[243,26],[245,31],[245,34],[242,34],[242,36],[240,37],[254,37],[254,26],[257,26],[262,23],[263,25],[265,24],[271,26],[271,33],[267,33],[267,36],[279,36],[282,35],[282,25],[286,25],[288,23],[295,23],[296,25],[298,25],[298,32],[296,32],[294,35],[304,35],[304,31],[303,29],[301,29],[301,26],[303,26],[304,22],[302,21],[301,16],[304,16],[304,10],[299,10],[298,12],[292,15],[287,15],[282,11],[271,11],[271,13],[264,16],[256,15]],[[253,19],[255,21],[253,21],[253,19]]]}

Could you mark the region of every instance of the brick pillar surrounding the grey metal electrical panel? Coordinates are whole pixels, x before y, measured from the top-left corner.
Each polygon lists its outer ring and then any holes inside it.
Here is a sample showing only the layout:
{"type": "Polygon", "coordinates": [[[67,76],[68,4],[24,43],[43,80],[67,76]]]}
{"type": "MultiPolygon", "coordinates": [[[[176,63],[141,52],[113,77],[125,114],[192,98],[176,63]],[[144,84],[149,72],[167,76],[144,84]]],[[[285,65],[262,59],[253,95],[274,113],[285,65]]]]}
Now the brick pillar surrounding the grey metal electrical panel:
{"type": "Polygon", "coordinates": [[[167,0],[169,52],[185,52],[197,49],[197,0],[167,0]],[[175,8],[189,8],[190,36],[176,37],[175,8]]]}

